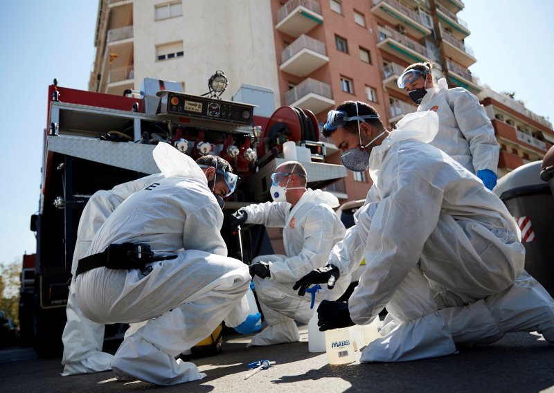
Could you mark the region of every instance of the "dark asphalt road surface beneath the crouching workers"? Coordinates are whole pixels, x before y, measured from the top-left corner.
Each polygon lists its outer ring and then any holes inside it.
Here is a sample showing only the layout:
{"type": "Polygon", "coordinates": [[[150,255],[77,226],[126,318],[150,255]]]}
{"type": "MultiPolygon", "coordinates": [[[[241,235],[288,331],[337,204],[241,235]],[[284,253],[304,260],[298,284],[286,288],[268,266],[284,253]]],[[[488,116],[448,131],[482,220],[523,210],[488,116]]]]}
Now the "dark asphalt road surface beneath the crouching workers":
{"type": "Polygon", "coordinates": [[[341,366],[308,351],[307,327],[301,327],[301,342],[246,349],[247,342],[248,336],[228,334],[221,354],[193,360],[206,378],[171,387],[119,382],[111,372],[62,377],[60,358],[4,349],[0,392],[554,392],[554,348],[536,334],[511,333],[444,358],[341,366]],[[247,363],[261,359],[276,365],[245,380],[247,363]]]}

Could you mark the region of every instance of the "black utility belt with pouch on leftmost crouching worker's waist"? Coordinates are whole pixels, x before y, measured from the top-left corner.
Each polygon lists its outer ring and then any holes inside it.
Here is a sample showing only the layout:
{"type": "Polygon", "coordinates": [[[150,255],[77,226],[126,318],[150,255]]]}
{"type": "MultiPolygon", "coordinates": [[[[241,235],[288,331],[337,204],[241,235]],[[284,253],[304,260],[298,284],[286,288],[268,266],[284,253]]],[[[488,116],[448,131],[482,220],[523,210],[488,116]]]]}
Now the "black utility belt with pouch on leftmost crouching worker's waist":
{"type": "Polygon", "coordinates": [[[93,268],[105,266],[110,269],[145,269],[147,264],[175,259],[177,255],[154,257],[150,246],[144,243],[110,244],[102,253],[89,255],[79,259],[75,277],[93,268]]]}

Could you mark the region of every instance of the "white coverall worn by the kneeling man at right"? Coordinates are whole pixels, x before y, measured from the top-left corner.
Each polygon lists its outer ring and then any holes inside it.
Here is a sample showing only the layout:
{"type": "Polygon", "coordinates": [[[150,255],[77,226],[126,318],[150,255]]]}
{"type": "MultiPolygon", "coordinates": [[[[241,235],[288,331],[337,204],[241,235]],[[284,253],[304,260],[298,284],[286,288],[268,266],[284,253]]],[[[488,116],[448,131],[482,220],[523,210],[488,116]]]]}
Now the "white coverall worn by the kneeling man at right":
{"type": "Polygon", "coordinates": [[[361,362],[444,356],[454,342],[494,342],[509,331],[539,331],[554,343],[554,301],[524,271],[519,228],[474,174],[425,143],[437,123],[431,111],[411,113],[373,148],[366,205],[330,255],[341,275],[365,255],[348,302],[357,325],[385,306],[389,313],[361,362]]]}

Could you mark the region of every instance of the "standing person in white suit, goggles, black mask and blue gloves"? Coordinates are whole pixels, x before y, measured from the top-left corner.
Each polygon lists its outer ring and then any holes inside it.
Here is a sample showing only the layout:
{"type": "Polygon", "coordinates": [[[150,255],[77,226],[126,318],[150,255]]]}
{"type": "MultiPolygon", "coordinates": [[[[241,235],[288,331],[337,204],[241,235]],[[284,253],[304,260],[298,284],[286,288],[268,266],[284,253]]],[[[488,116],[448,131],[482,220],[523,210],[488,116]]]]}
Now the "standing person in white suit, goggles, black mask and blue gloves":
{"type": "Polygon", "coordinates": [[[443,77],[434,86],[430,62],[408,66],[398,78],[400,89],[419,105],[418,112],[438,113],[438,132],[431,145],[443,150],[492,190],[497,184],[500,147],[479,99],[463,87],[448,89],[443,77]]]}

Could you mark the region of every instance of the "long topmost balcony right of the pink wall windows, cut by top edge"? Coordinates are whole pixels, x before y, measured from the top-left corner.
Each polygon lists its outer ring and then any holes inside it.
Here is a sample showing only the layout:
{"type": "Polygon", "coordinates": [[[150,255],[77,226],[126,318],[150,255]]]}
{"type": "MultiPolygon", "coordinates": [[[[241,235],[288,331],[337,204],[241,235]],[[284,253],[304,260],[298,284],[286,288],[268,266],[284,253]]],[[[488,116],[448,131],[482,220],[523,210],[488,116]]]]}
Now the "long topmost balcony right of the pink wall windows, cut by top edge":
{"type": "Polygon", "coordinates": [[[378,17],[391,22],[391,24],[402,24],[406,33],[413,37],[421,38],[431,34],[431,30],[425,26],[418,12],[398,0],[373,0],[373,12],[378,17]]]}

